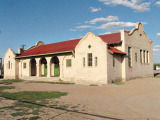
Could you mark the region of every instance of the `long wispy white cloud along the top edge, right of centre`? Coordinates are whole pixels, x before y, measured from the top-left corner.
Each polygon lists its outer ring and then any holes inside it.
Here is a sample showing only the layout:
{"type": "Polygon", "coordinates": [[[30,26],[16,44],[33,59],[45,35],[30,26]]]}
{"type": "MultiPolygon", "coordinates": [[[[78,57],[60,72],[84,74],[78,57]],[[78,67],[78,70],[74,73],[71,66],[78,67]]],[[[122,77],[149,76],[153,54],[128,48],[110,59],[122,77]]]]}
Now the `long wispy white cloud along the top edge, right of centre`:
{"type": "Polygon", "coordinates": [[[99,0],[105,5],[123,5],[134,9],[136,12],[144,12],[150,10],[150,2],[144,2],[143,0],[99,0]]]}

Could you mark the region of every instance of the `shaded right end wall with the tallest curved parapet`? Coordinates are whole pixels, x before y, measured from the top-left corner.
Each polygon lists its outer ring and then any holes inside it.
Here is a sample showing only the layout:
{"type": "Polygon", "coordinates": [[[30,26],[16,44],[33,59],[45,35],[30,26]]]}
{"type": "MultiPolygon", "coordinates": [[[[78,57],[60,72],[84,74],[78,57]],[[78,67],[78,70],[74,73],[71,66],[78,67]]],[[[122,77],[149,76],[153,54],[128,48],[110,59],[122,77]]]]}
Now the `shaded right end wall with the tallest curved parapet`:
{"type": "Polygon", "coordinates": [[[153,46],[152,42],[148,39],[146,33],[144,32],[142,24],[137,23],[136,28],[133,29],[129,34],[124,32],[123,39],[124,43],[122,44],[124,46],[122,45],[122,49],[125,53],[127,53],[122,65],[123,79],[129,80],[138,77],[153,76],[153,46]],[[128,47],[131,47],[131,67],[128,65],[128,47]],[[149,63],[140,62],[140,50],[149,52],[149,63]],[[135,60],[135,53],[137,53],[137,62],[135,60]]]}

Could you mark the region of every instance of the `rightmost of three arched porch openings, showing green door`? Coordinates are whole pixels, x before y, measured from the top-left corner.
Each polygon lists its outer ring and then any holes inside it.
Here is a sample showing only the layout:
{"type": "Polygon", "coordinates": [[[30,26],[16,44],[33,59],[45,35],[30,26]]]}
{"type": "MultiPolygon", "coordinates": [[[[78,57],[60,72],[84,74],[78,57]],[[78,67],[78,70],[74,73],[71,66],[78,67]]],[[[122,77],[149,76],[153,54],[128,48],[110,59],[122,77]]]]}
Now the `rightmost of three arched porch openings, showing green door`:
{"type": "Polygon", "coordinates": [[[51,76],[59,76],[59,59],[57,56],[51,59],[51,76]]]}

